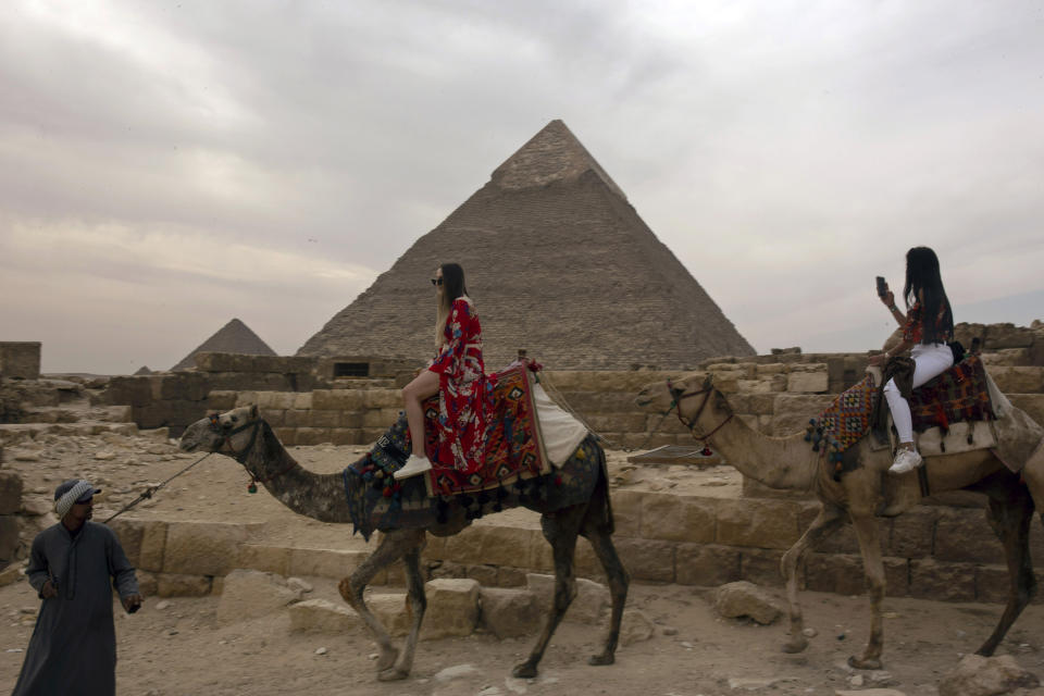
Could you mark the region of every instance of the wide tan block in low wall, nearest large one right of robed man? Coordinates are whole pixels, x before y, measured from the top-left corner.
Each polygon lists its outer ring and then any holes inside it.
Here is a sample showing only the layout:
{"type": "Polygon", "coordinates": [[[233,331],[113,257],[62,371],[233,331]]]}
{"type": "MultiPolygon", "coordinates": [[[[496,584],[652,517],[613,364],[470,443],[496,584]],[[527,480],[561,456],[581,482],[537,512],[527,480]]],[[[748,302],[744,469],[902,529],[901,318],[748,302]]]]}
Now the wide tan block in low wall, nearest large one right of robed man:
{"type": "Polygon", "coordinates": [[[247,526],[243,524],[170,522],[163,572],[225,575],[237,567],[239,547],[246,540],[247,526]]]}

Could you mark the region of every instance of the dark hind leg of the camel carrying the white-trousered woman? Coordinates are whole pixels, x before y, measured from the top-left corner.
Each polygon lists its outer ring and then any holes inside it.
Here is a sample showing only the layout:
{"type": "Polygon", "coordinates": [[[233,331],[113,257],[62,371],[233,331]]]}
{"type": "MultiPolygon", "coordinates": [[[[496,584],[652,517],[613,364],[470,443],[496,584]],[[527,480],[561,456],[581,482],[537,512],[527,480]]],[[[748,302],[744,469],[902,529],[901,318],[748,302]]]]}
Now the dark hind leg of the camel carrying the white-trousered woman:
{"type": "Polygon", "coordinates": [[[1004,544],[1004,557],[1008,563],[1008,604],[1004,614],[977,655],[990,657],[1004,639],[1005,634],[1022,609],[1036,594],[1033,563],[1030,560],[1030,521],[1033,519],[1033,501],[1029,496],[1016,500],[990,499],[990,518],[994,531],[1004,544]]]}

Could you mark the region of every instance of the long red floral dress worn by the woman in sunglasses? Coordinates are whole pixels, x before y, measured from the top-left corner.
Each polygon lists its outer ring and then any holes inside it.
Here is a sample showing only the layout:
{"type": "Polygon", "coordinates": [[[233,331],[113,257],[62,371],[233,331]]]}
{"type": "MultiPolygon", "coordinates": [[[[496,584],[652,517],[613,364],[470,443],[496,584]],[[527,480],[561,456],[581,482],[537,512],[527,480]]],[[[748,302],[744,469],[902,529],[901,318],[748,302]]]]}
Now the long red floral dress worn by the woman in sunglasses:
{"type": "Polygon", "coordinates": [[[438,374],[438,462],[472,473],[486,460],[489,395],[482,325],[468,300],[453,300],[445,336],[446,344],[427,368],[438,374]]]}

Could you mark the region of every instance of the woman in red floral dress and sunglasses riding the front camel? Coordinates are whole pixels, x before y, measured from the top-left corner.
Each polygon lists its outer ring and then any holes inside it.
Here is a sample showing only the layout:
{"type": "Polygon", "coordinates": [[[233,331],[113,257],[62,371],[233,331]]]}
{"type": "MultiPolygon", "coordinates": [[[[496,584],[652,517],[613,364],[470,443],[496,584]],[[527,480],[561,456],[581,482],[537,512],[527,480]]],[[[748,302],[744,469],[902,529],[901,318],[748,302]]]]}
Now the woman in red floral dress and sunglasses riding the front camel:
{"type": "Polygon", "coordinates": [[[424,451],[424,412],[421,402],[438,398],[438,463],[471,473],[485,462],[487,393],[482,362],[482,325],[468,297],[464,271],[444,263],[432,278],[438,296],[435,345],[438,356],[402,389],[413,452],[396,478],[431,470],[424,451]]]}

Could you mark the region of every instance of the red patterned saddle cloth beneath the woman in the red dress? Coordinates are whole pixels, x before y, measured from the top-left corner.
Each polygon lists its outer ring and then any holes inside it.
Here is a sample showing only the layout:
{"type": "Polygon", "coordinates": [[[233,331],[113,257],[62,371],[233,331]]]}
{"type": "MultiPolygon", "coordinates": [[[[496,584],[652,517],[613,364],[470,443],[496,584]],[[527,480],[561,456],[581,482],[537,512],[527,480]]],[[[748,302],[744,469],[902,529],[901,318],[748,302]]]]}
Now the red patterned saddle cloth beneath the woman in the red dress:
{"type": "Polygon", "coordinates": [[[493,390],[493,413],[485,434],[486,461],[471,474],[439,465],[435,427],[438,396],[424,401],[424,448],[432,462],[432,470],[425,474],[428,495],[451,496],[485,490],[550,473],[551,464],[544,449],[533,402],[532,380],[532,373],[524,364],[487,375],[493,390]]]}

